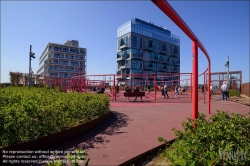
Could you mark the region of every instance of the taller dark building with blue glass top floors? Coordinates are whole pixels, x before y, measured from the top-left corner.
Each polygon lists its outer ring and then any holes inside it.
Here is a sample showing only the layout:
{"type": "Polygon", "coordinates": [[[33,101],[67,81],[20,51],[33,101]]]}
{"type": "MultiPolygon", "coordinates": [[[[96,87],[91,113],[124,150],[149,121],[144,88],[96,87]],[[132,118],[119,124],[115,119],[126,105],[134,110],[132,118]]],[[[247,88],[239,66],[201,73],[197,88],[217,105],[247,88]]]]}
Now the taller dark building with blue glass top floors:
{"type": "MultiPolygon", "coordinates": [[[[136,84],[150,83],[154,79],[146,74],[158,75],[157,81],[178,80],[180,73],[180,38],[167,28],[131,19],[117,29],[117,74],[145,74],[118,76],[118,81],[133,80],[136,84]]],[[[130,81],[131,82],[131,81],[130,81]]],[[[176,84],[177,82],[175,82],[176,84]]],[[[178,84],[178,83],[177,83],[178,84]]]]}

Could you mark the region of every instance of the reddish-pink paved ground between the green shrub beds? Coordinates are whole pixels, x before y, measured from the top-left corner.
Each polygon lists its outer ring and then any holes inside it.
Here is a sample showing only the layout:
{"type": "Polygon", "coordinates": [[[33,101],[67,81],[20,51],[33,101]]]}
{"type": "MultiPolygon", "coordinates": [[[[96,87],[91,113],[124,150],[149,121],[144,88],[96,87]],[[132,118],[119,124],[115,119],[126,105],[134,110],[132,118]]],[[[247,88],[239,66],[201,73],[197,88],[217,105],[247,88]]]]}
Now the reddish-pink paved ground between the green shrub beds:
{"type": "MultiPolygon", "coordinates": [[[[162,99],[154,94],[143,101],[126,101],[120,96],[111,102],[111,118],[104,125],[75,140],[66,142],[54,149],[73,150],[82,147],[89,154],[89,165],[120,165],[156,146],[161,145],[157,136],[167,140],[175,138],[174,127],[181,128],[181,122],[191,117],[190,94],[162,99]]],[[[207,115],[208,106],[204,104],[203,94],[199,94],[199,112],[207,115]]],[[[250,107],[234,101],[221,101],[221,96],[213,96],[211,115],[216,110],[249,114],[250,107]]]]}

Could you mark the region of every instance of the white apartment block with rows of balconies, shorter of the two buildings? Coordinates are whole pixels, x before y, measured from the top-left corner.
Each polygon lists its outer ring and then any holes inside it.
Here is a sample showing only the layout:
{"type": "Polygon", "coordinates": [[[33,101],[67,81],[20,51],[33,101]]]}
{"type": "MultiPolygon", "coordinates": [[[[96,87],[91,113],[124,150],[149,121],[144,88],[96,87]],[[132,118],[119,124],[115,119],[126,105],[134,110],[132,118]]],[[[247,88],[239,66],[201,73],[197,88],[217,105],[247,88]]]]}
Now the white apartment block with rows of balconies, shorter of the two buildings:
{"type": "Polygon", "coordinates": [[[39,58],[37,74],[57,78],[86,74],[86,60],[87,50],[79,47],[77,40],[68,40],[64,44],[48,43],[39,58]]]}

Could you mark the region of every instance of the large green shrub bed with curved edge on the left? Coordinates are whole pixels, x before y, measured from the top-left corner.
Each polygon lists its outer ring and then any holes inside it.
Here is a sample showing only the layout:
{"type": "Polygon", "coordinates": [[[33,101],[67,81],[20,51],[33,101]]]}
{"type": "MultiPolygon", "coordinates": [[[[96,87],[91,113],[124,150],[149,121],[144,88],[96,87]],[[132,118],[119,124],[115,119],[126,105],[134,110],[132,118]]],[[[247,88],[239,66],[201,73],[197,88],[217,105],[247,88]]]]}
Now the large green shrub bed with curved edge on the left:
{"type": "Polygon", "coordinates": [[[106,95],[58,89],[0,89],[0,146],[27,142],[86,123],[109,111],[106,95]]]}

